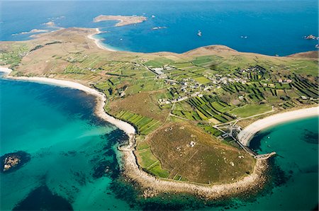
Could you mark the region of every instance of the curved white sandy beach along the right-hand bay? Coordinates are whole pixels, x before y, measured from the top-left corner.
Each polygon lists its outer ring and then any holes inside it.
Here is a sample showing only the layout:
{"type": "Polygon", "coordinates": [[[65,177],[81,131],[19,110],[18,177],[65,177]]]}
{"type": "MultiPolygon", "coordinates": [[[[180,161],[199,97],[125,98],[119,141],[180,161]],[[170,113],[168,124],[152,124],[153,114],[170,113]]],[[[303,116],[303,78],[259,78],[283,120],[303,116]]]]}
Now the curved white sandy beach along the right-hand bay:
{"type": "Polygon", "coordinates": [[[257,120],[256,122],[253,122],[252,124],[245,127],[244,130],[242,130],[238,134],[238,139],[243,145],[249,146],[252,137],[254,137],[254,135],[260,130],[271,127],[273,125],[278,125],[283,122],[289,122],[291,120],[298,120],[301,118],[308,118],[315,115],[319,115],[319,107],[303,108],[300,110],[293,110],[285,113],[271,115],[262,120],[257,120]]]}

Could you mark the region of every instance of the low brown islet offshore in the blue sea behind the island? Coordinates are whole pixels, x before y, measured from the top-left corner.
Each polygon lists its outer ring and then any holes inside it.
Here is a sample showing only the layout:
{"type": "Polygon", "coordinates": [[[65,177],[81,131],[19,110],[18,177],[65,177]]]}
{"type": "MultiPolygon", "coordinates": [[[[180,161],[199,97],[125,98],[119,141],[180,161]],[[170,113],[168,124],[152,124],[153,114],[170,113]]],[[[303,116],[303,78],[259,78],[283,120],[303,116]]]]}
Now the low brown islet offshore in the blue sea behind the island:
{"type": "Polygon", "coordinates": [[[145,16],[97,16],[94,18],[94,23],[101,21],[120,21],[116,23],[116,26],[130,25],[136,23],[142,23],[146,21],[147,18],[145,16]]]}

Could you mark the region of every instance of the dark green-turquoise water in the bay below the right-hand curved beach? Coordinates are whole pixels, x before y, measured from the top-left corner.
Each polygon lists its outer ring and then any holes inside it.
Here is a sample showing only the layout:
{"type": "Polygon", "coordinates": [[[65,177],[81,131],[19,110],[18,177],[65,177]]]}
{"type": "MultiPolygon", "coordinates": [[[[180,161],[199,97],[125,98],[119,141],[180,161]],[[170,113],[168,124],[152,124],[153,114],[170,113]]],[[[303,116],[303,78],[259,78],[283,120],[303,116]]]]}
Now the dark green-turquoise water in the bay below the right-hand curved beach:
{"type": "Polygon", "coordinates": [[[272,194],[258,198],[257,205],[247,205],[247,209],[313,210],[318,206],[318,120],[276,125],[252,139],[251,147],[258,153],[278,154],[274,162],[285,179],[272,194]]]}

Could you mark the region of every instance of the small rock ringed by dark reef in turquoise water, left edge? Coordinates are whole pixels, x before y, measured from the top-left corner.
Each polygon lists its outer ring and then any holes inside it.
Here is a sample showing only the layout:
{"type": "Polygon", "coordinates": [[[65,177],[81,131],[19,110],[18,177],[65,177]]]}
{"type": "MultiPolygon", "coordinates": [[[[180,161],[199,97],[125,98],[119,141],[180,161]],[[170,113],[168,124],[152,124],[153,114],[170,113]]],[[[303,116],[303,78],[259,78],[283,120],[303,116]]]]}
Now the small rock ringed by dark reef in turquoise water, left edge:
{"type": "Polygon", "coordinates": [[[1,173],[10,173],[20,169],[24,164],[30,161],[30,154],[18,151],[1,156],[1,173]]]}

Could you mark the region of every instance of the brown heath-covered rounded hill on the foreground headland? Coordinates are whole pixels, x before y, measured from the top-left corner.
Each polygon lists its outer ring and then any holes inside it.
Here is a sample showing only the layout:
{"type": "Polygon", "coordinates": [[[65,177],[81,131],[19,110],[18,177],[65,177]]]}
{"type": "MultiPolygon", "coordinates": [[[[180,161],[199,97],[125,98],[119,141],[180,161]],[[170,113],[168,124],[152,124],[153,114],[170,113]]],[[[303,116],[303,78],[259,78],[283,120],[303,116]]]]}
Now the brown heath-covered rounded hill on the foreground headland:
{"type": "Polygon", "coordinates": [[[249,154],[186,123],[166,125],[150,135],[147,142],[164,169],[170,171],[169,178],[225,183],[237,181],[254,168],[249,154]]]}

